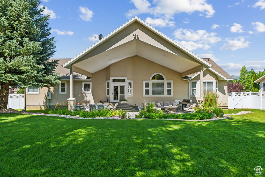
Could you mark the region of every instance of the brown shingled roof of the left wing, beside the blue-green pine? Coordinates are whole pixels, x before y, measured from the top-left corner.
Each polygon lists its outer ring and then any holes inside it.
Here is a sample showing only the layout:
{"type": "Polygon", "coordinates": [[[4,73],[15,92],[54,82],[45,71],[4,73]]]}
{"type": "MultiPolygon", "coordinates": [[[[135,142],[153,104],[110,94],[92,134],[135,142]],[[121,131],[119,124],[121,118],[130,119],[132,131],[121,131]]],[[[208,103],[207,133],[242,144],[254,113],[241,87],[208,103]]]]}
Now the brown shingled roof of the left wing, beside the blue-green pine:
{"type": "MultiPolygon", "coordinates": [[[[58,66],[55,69],[55,72],[60,73],[60,79],[63,79],[63,80],[70,79],[70,70],[62,66],[64,63],[68,62],[70,59],[71,58],[61,58],[61,59],[51,58],[50,59],[50,61],[53,61],[53,60],[59,61],[58,66]]],[[[81,75],[81,74],[74,72],[74,79],[90,79],[90,77],[87,78],[87,76],[85,75],[81,75]]]]}

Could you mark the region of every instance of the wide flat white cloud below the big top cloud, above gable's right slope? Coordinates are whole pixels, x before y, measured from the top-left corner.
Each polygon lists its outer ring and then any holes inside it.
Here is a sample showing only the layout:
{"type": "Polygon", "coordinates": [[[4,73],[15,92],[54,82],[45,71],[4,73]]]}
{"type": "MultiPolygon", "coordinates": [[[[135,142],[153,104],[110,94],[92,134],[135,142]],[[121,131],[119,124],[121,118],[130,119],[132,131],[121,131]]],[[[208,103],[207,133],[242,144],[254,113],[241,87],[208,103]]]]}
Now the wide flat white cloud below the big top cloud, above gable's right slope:
{"type": "Polygon", "coordinates": [[[221,41],[220,37],[217,37],[217,33],[207,32],[206,30],[193,31],[192,29],[176,29],[174,31],[175,38],[186,41],[198,41],[198,43],[210,43],[214,44],[221,41]]]}

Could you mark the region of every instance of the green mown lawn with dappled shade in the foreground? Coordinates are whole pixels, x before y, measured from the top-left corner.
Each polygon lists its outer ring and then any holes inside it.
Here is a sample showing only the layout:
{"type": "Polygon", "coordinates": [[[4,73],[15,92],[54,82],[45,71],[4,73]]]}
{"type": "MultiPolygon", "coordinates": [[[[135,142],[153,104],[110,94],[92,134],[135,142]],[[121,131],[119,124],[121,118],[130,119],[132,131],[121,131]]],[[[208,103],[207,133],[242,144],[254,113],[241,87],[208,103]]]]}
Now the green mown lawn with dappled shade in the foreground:
{"type": "Polygon", "coordinates": [[[251,111],[200,122],[0,114],[0,176],[254,176],[265,111],[251,111]]]}

